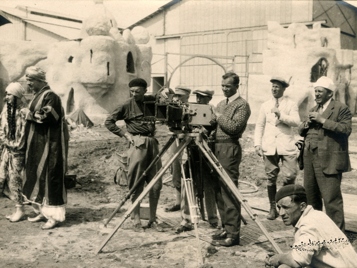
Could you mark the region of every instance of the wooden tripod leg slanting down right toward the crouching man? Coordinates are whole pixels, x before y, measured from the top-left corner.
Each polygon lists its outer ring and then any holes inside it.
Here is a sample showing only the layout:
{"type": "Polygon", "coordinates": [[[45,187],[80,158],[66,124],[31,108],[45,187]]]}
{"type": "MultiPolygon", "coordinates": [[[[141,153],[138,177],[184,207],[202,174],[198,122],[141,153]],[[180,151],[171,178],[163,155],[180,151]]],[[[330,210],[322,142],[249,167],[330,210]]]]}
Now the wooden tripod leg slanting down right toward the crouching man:
{"type": "Polygon", "coordinates": [[[239,203],[241,203],[242,207],[248,213],[250,218],[262,230],[262,232],[267,237],[267,239],[269,240],[269,242],[271,243],[273,248],[276,250],[276,252],[279,253],[279,254],[282,254],[283,251],[279,248],[279,246],[275,243],[274,239],[270,236],[268,231],[264,228],[262,223],[259,221],[258,215],[253,213],[253,211],[251,210],[250,206],[247,204],[247,200],[243,198],[242,194],[239,192],[239,190],[236,187],[236,185],[232,182],[231,178],[227,175],[227,173],[225,172],[224,168],[220,165],[218,159],[212,153],[211,149],[208,147],[207,142],[205,140],[202,140],[200,142],[197,139],[195,140],[195,142],[198,145],[198,147],[202,150],[203,154],[205,154],[207,159],[211,162],[211,164],[217,170],[219,176],[221,177],[222,181],[227,186],[227,188],[232,191],[234,197],[239,201],[239,203]],[[202,145],[202,143],[204,144],[204,146],[202,145]]]}

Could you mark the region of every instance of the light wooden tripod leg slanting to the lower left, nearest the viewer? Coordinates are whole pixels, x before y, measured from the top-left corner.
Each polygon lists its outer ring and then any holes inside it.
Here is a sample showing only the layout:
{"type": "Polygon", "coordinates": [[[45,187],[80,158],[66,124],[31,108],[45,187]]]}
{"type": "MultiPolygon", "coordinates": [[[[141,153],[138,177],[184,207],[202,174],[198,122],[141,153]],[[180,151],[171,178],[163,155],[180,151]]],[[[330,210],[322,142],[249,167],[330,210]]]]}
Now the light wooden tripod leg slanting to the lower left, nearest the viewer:
{"type": "Polygon", "coordinates": [[[95,251],[95,254],[98,254],[101,249],[103,249],[108,241],[110,240],[110,238],[112,238],[112,236],[116,233],[116,231],[120,228],[120,226],[125,222],[125,220],[127,218],[130,217],[130,214],[133,212],[133,210],[141,203],[141,201],[145,198],[146,194],[150,191],[150,189],[152,188],[152,186],[155,185],[155,183],[158,182],[158,180],[164,175],[164,173],[166,172],[166,170],[170,167],[170,165],[172,164],[172,162],[181,154],[182,151],[184,151],[184,149],[186,148],[187,144],[190,143],[190,140],[187,139],[185,142],[182,142],[180,144],[180,146],[176,149],[175,153],[173,153],[169,160],[165,163],[165,165],[163,167],[161,167],[161,169],[159,170],[159,172],[155,175],[154,178],[152,178],[152,180],[149,182],[149,184],[144,188],[143,192],[140,194],[140,196],[137,198],[137,200],[132,204],[132,206],[126,211],[125,216],[121,219],[121,221],[115,226],[115,228],[113,229],[113,231],[107,236],[106,240],[101,243],[101,245],[99,246],[99,248],[95,251]]]}

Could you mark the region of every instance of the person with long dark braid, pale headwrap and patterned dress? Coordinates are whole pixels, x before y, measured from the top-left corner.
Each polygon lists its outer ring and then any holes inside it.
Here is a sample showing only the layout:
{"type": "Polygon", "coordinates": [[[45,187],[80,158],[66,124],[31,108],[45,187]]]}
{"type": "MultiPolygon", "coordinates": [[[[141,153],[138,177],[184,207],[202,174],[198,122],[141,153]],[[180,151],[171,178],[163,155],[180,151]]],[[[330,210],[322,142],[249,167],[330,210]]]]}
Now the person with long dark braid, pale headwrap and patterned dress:
{"type": "Polygon", "coordinates": [[[26,123],[20,112],[24,107],[23,94],[19,83],[10,83],[6,88],[6,105],[0,115],[0,190],[16,204],[16,211],[6,216],[10,222],[18,222],[25,215],[21,194],[26,123]]]}

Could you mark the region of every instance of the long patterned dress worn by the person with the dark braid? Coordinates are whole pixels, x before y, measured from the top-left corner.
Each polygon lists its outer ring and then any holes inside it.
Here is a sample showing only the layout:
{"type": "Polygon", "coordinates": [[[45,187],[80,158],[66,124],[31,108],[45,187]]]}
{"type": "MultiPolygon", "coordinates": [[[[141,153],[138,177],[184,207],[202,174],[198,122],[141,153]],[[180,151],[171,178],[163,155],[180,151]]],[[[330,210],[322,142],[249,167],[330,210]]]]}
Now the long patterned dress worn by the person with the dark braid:
{"type": "Polygon", "coordinates": [[[3,193],[21,205],[23,198],[22,176],[25,163],[25,125],[26,120],[21,115],[19,106],[15,113],[16,132],[15,139],[9,138],[8,111],[7,105],[4,106],[0,115],[0,143],[2,153],[0,158],[0,190],[3,193]]]}

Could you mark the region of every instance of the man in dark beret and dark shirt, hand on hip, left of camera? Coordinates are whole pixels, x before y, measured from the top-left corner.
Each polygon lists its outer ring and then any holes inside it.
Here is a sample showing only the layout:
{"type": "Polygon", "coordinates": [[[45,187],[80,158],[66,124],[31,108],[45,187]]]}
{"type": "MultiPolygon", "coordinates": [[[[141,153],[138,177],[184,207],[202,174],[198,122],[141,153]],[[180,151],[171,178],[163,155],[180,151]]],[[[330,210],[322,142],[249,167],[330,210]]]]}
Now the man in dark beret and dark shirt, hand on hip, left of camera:
{"type": "MultiPolygon", "coordinates": [[[[127,162],[129,163],[127,179],[129,189],[132,189],[135,182],[144,173],[144,170],[159,154],[159,142],[155,138],[155,123],[145,121],[144,119],[144,102],[155,101],[156,95],[145,95],[147,84],[144,79],[136,78],[129,83],[131,98],[119,104],[119,106],[108,116],[105,126],[109,131],[124,137],[129,142],[127,151],[127,162]],[[124,120],[126,132],[117,127],[115,124],[118,120],[124,120]]],[[[161,168],[159,160],[145,176],[138,187],[132,194],[132,203],[140,196],[144,189],[145,181],[149,183],[161,168]]],[[[156,209],[160,198],[162,188],[161,178],[149,191],[150,218],[148,227],[157,231],[163,231],[163,228],[156,221],[156,209]]],[[[133,229],[136,232],[144,232],[140,221],[140,206],[133,210],[134,224],[133,229]]]]}

